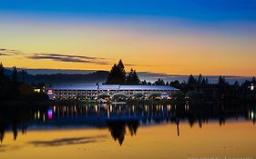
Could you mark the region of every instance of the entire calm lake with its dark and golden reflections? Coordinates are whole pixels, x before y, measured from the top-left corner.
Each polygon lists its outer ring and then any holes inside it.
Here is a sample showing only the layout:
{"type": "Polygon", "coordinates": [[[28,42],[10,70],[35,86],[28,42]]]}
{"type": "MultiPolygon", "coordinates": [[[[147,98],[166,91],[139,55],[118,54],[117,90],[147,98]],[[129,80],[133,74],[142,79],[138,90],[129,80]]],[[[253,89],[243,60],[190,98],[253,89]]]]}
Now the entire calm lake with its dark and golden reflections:
{"type": "Polygon", "coordinates": [[[0,158],[256,158],[255,106],[0,109],[0,158]]]}

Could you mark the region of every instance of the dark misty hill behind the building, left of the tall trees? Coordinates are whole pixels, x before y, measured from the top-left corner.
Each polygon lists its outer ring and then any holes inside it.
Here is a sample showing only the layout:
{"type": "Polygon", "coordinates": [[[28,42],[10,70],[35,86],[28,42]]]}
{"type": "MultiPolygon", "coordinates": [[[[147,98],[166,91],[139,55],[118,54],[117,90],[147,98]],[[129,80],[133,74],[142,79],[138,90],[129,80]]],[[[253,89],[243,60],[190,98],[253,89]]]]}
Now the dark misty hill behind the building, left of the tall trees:
{"type": "MultiPolygon", "coordinates": [[[[12,71],[6,69],[5,75],[11,76],[12,71]]],[[[25,73],[25,81],[29,84],[102,84],[107,80],[108,71],[96,71],[90,74],[51,74],[51,75],[29,75],[25,73]]],[[[18,72],[18,79],[22,81],[23,74],[18,72]]]]}

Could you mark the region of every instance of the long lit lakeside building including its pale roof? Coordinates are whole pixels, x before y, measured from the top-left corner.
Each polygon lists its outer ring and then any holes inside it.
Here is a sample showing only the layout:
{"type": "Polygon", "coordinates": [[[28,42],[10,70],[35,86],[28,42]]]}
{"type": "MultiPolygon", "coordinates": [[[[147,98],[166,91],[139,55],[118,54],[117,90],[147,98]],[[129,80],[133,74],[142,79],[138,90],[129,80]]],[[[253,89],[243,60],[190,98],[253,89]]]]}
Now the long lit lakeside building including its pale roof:
{"type": "Polygon", "coordinates": [[[51,100],[65,99],[97,99],[100,94],[144,94],[147,98],[150,94],[161,94],[168,97],[179,89],[168,85],[119,85],[119,84],[100,84],[100,85],[62,85],[46,88],[46,93],[51,100]]]}

